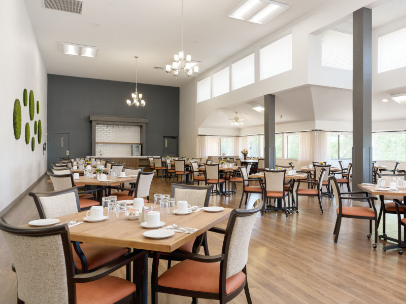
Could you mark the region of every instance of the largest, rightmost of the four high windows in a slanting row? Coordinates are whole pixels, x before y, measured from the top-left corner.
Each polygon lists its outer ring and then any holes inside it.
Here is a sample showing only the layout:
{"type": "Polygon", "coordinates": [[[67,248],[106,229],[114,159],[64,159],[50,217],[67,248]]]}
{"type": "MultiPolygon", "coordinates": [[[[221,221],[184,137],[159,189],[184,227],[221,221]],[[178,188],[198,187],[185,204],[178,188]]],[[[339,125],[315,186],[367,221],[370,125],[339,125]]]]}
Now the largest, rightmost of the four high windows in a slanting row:
{"type": "Polygon", "coordinates": [[[292,34],[259,50],[259,79],[263,80],[292,69],[292,34]]]}

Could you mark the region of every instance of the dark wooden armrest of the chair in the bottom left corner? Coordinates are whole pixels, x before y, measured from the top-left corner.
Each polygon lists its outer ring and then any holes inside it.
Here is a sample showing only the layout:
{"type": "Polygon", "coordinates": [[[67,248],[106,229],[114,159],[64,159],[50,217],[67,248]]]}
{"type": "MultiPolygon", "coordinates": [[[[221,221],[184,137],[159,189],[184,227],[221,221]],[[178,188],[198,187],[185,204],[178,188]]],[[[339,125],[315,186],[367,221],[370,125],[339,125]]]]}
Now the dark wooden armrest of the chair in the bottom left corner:
{"type": "Polygon", "coordinates": [[[96,271],[93,271],[91,273],[77,274],[73,277],[73,280],[75,283],[86,283],[101,279],[111,274],[112,272],[116,271],[117,269],[120,269],[125,264],[128,264],[147,253],[148,253],[147,250],[136,250],[134,252],[119,257],[114,262],[108,263],[104,265],[104,267],[99,268],[96,271]]]}

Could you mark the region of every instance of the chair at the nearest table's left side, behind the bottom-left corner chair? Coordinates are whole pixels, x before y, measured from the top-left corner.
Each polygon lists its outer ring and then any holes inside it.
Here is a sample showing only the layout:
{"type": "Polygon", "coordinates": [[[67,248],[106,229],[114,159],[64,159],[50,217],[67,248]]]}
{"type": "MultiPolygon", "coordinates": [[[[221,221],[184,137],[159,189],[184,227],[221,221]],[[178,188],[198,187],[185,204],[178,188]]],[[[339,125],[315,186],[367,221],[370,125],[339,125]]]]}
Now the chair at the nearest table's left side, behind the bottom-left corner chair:
{"type": "MultiPolygon", "coordinates": [[[[80,211],[76,187],[57,192],[29,193],[37,207],[40,218],[55,218],[80,211]]],[[[128,254],[128,248],[72,242],[74,262],[83,273],[99,269],[103,264],[128,254]]],[[[128,271],[128,269],[127,269],[128,271]]]]}

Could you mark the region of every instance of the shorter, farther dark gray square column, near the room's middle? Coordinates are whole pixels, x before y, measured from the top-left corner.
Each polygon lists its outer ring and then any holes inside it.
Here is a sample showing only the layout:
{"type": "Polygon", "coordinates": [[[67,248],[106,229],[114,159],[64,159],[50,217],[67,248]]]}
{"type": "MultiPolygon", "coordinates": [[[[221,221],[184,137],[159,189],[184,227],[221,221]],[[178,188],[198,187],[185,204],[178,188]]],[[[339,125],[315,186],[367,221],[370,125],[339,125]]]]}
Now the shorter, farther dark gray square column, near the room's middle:
{"type": "Polygon", "coordinates": [[[275,95],[264,96],[265,168],[275,169],[275,95]]]}

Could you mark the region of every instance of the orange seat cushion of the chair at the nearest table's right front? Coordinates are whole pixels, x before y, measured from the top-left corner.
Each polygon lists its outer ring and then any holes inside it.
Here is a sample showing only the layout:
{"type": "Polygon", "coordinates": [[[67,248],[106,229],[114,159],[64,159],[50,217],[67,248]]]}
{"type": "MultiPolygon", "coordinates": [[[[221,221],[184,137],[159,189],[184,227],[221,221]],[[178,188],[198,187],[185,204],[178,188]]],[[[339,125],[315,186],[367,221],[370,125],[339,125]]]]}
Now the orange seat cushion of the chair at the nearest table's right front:
{"type": "MultiPolygon", "coordinates": [[[[201,292],[219,292],[220,262],[203,263],[184,260],[177,263],[158,278],[158,285],[201,292]]],[[[225,293],[230,294],[245,282],[245,274],[239,272],[226,279],[225,293]]]]}

